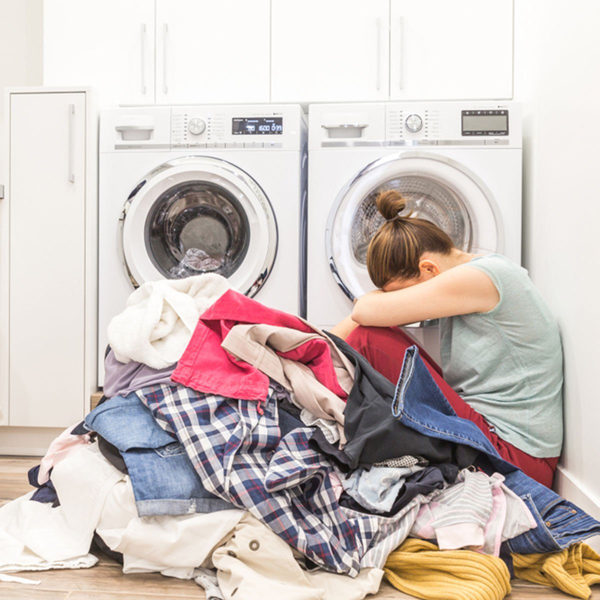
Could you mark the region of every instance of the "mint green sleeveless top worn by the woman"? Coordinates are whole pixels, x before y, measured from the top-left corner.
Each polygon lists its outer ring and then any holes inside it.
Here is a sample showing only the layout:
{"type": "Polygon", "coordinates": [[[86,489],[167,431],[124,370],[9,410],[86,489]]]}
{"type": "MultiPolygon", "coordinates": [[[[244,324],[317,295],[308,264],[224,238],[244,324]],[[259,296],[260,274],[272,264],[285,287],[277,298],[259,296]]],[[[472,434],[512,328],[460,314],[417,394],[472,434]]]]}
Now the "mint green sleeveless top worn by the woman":
{"type": "Polygon", "coordinates": [[[534,457],[558,456],[563,367],[553,314],[526,269],[500,254],[454,268],[483,271],[500,301],[487,313],[441,320],[446,381],[503,440],[534,457]]]}

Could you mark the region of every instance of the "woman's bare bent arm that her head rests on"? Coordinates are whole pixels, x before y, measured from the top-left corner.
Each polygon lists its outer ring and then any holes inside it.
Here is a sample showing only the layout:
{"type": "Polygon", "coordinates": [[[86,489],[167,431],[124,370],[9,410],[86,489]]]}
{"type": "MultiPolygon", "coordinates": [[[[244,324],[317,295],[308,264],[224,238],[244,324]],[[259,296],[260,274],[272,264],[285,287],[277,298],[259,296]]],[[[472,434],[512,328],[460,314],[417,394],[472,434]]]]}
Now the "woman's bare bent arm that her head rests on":
{"type": "Polygon", "coordinates": [[[468,266],[394,292],[368,293],[356,302],[352,320],[385,327],[492,310],[500,301],[496,286],[484,272],[468,266]]]}

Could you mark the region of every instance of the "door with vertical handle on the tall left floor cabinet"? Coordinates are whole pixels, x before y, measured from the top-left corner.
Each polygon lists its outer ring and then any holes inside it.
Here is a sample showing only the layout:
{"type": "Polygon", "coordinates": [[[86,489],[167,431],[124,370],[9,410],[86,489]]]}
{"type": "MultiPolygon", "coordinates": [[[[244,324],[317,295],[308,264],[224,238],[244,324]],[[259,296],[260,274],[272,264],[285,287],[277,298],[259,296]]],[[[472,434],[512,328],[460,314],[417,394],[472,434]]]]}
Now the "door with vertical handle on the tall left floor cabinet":
{"type": "Polygon", "coordinates": [[[11,94],[9,425],[84,411],[85,94],[11,94]]]}

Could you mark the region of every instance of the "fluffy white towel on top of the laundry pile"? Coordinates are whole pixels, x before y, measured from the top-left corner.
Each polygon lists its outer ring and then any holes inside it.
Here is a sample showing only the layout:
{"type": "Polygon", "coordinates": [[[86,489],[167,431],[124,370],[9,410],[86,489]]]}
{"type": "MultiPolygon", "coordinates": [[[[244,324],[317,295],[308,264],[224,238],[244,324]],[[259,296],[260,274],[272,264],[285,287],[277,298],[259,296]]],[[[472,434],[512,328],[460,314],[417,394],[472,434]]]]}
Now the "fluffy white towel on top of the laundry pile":
{"type": "Polygon", "coordinates": [[[230,287],[226,278],[214,273],[143,284],[109,323],[108,340],[116,359],[155,369],[177,362],[198,317],[230,287]]]}

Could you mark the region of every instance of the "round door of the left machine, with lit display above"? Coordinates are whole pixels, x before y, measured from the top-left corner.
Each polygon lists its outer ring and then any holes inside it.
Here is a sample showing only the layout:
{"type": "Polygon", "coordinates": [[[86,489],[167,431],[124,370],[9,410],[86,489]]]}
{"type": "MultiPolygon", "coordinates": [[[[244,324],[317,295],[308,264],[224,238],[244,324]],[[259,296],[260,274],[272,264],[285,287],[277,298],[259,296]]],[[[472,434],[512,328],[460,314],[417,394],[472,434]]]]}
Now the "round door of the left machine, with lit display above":
{"type": "Polygon", "coordinates": [[[121,221],[122,256],[134,287],[211,272],[254,296],[277,254],[277,221],[265,192],[218,158],[176,158],[148,173],[121,221]]]}

